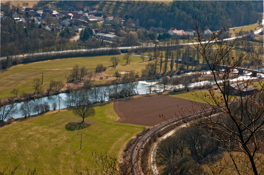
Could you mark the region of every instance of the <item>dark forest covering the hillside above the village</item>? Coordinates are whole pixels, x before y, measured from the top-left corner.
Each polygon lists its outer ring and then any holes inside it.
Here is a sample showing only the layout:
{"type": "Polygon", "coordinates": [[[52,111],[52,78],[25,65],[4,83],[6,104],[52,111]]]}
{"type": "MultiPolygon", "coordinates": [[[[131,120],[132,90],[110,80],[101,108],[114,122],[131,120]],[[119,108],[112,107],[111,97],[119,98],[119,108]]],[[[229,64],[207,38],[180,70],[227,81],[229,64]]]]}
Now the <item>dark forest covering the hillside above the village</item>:
{"type": "MultiPolygon", "coordinates": [[[[62,3],[62,2],[61,2],[62,3]]],[[[153,1],[63,1],[74,8],[90,6],[105,9],[104,15],[132,20],[141,27],[191,28],[186,18],[196,17],[211,31],[223,26],[242,26],[262,19],[263,1],[172,1],[168,5],[153,1]]]]}

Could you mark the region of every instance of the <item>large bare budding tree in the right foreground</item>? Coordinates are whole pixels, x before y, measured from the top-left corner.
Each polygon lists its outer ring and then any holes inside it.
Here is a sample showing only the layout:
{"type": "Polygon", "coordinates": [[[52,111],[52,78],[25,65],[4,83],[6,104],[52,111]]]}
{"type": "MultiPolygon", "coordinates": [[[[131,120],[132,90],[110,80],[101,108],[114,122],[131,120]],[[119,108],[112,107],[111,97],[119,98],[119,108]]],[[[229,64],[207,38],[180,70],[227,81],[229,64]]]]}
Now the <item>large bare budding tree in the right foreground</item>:
{"type": "MultiPolygon", "coordinates": [[[[193,46],[199,50],[200,55],[208,64],[213,74],[214,83],[222,93],[221,96],[216,95],[211,88],[208,89],[208,92],[201,91],[202,95],[194,92],[195,96],[207,104],[195,103],[195,105],[201,107],[201,110],[191,113],[196,117],[190,125],[209,129],[213,133],[211,138],[220,142],[220,148],[230,158],[230,160],[222,160],[221,164],[206,159],[205,162],[218,169],[224,168],[221,174],[227,172],[262,174],[264,171],[263,153],[261,152],[264,146],[263,82],[259,79],[254,80],[255,82],[253,82],[253,79],[239,80],[237,78],[243,72],[233,73],[233,70],[241,66],[250,56],[250,54],[244,53],[235,57],[233,50],[247,41],[244,40],[244,36],[241,36],[241,32],[235,32],[236,37],[233,40],[218,40],[219,35],[225,32],[225,27],[219,30],[218,33],[208,36],[205,41],[201,31],[204,30],[206,24],[202,25],[201,21],[197,21],[196,18],[189,22],[197,32],[196,41],[198,44],[193,44],[193,46]],[[215,49],[215,52],[210,52],[210,49],[214,46],[217,49],[215,49]],[[230,88],[232,87],[230,86],[232,84],[230,80],[233,80],[236,91],[230,88]],[[254,86],[254,84],[257,84],[258,88],[248,86],[254,86]],[[227,166],[222,166],[224,164],[227,166]]],[[[244,69],[247,69],[247,67],[244,67],[244,69]]],[[[190,119],[183,116],[180,118],[183,118],[184,122],[190,121],[190,119]]],[[[219,171],[211,171],[210,173],[219,174],[219,171]]]]}

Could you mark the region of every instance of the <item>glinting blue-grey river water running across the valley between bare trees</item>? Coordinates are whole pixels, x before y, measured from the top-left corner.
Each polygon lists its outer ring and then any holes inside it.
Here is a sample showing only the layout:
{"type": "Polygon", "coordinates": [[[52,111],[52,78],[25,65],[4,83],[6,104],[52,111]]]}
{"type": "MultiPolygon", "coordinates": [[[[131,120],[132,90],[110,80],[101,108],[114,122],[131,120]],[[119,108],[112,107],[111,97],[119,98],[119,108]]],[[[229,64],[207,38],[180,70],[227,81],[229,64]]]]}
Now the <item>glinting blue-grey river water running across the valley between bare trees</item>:
{"type": "MultiPolygon", "coordinates": [[[[208,72],[210,73],[210,72],[208,72]]],[[[264,76],[263,74],[260,76],[264,76]]],[[[251,78],[255,78],[255,77],[251,77],[251,76],[247,76],[247,75],[243,75],[238,77],[238,80],[242,80],[242,79],[251,79],[251,78]]],[[[90,91],[90,95],[88,97],[89,100],[91,100],[93,103],[95,102],[102,102],[102,101],[109,101],[110,97],[109,97],[109,93],[107,93],[107,90],[104,90],[104,92],[100,91],[99,89],[115,89],[114,92],[118,92],[118,91],[122,91],[124,88],[130,88],[130,92],[132,95],[137,95],[137,94],[148,94],[150,91],[150,85],[152,86],[151,88],[151,92],[161,92],[163,91],[163,87],[161,87],[159,84],[157,84],[158,82],[160,82],[162,79],[158,79],[158,80],[149,80],[149,81],[138,81],[138,82],[133,82],[133,85],[131,85],[131,83],[124,83],[124,84],[119,84],[119,85],[111,85],[111,86],[102,86],[102,87],[94,87],[90,91]],[[94,94],[95,93],[95,94],[94,94]],[[104,94],[102,94],[104,93],[104,94]]],[[[236,81],[236,80],[231,80],[231,81],[236,81]]],[[[183,84],[179,84],[177,85],[177,87],[172,87],[170,85],[167,85],[166,90],[170,90],[172,88],[174,89],[184,89],[184,88],[199,88],[199,87],[210,87],[210,85],[214,84],[214,81],[200,81],[200,82],[196,82],[196,83],[188,83],[188,85],[183,85],[183,84]]],[[[77,90],[77,91],[72,91],[72,92],[68,92],[68,93],[61,93],[58,95],[51,95],[48,97],[42,97],[39,99],[35,99],[35,100],[27,100],[27,102],[31,101],[34,102],[34,104],[43,104],[46,102],[46,104],[48,104],[50,106],[50,109],[52,109],[52,104],[56,103],[56,109],[63,109],[66,107],[70,107],[70,103],[69,102],[69,97],[73,96],[74,93],[78,93],[82,90],[77,90]],[[67,102],[68,99],[68,102],[67,102]]],[[[124,93],[125,95],[125,93],[124,93]]],[[[26,101],[22,101],[22,102],[17,102],[14,103],[15,107],[16,107],[16,114],[13,114],[12,117],[13,118],[19,118],[19,117],[23,117],[22,114],[19,112],[20,106],[23,105],[23,103],[26,101]]],[[[37,114],[36,111],[31,112],[31,115],[35,115],[37,114]]],[[[7,120],[7,119],[6,119],[7,120]]]]}

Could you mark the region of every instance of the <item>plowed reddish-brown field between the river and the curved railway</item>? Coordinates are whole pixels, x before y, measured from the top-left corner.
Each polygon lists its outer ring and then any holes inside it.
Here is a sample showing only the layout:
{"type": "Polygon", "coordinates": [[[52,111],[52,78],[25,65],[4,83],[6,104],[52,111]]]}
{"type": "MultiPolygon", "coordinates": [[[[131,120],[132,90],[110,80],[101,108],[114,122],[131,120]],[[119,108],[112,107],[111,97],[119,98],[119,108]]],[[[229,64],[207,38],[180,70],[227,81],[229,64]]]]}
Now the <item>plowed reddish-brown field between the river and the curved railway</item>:
{"type": "Polygon", "coordinates": [[[176,118],[176,115],[183,113],[182,108],[196,111],[196,107],[190,100],[180,99],[167,95],[153,95],[138,97],[127,101],[114,102],[114,111],[120,117],[117,122],[132,123],[143,126],[154,126],[165,120],[159,115],[165,116],[168,120],[176,118]]]}

